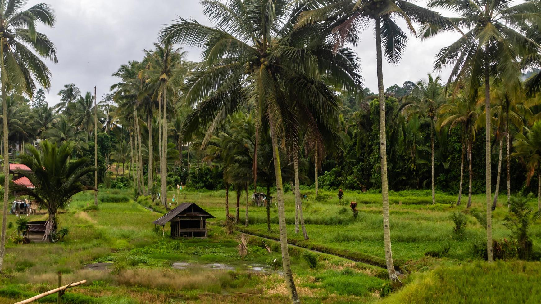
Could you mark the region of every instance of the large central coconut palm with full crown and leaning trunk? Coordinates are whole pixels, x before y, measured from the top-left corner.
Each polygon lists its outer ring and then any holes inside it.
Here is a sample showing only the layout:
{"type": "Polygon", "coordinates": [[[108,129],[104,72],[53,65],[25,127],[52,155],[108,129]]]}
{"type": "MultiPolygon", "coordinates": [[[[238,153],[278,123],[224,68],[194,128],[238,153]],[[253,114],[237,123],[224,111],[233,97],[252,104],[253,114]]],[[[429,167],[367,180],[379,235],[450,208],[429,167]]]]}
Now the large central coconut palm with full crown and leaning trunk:
{"type": "MultiPolygon", "coordinates": [[[[204,13],[216,26],[204,26],[180,18],[164,26],[162,42],[203,45],[204,62],[197,66],[183,88],[183,99],[195,110],[184,124],[183,133],[207,130],[203,145],[229,114],[251,100],[256,125],[268,121],[273,146],[276,197],[280,227],[282,266],[293,301],[298,302],[287,248],[285,207],[279,140],[295,137],[288,126],[298,123],[291,105],[309,112],[325,112],[337,103],[327,83],[345,90],[359,85],[356,58],[349,49],[337,49],[320,33],[334,24],[293,28],[293,21],[312,5],[296,1],[246,0],[222,3],[202,1],[204,13]],[[202,101],[201,101],[202,100],[202,101]]],[[[301,122],[302,123],[302,122],[301,122]]]]}

